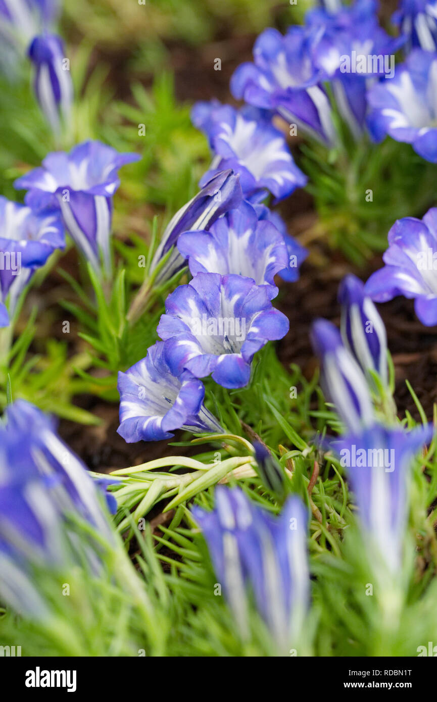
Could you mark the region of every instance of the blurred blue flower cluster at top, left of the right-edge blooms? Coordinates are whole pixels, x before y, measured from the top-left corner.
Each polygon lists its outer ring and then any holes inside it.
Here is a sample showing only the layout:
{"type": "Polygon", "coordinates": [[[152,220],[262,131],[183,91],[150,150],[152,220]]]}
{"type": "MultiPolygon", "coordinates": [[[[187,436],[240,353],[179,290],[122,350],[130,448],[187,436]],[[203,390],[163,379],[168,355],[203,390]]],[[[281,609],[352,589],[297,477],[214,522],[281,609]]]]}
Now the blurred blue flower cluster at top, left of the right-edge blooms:
{"type": "Polygon", "coordinates": [[[380,76],[393,76],[393,53],[403,41],[379,26],[376,0],[347,7],[325,3],[285,36],[266,29],[255,42],[254,62],[237,68],[231,90],[235,98],[279,114],[290,126],[334,146],[338,135],[325,84],[330,83],[337,110],[360,138],[367,88],[380,76]]]}

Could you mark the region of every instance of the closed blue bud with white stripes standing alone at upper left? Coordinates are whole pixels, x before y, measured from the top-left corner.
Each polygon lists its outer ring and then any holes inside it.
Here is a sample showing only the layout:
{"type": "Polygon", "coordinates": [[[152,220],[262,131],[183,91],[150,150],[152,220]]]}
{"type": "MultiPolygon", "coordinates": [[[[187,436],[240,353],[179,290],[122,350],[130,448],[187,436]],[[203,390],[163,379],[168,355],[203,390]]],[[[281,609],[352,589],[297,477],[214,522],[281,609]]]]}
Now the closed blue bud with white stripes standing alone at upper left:
{"type": "Polygon", "coordinates": [[[73,101],[70,70],[65,69],[63,42],[53,34],[34,37],[29,48],[35,67],[34,91],[39,106],[55,133],[68,124],[73,101]]]}

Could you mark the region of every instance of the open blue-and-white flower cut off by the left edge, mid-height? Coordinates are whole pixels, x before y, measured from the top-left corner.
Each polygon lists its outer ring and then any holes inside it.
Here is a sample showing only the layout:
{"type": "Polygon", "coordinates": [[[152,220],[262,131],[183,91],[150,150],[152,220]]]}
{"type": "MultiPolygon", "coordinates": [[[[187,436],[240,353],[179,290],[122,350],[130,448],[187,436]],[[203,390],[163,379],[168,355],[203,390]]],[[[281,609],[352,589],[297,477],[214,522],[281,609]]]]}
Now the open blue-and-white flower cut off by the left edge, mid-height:
{"type": "Polygon", "coordinates": [[[64,227],[56,210],[41,210],[0,197],[0,326],[8,326],[18,298],[34,270],[55,249],[65,246],[64,227]]]}

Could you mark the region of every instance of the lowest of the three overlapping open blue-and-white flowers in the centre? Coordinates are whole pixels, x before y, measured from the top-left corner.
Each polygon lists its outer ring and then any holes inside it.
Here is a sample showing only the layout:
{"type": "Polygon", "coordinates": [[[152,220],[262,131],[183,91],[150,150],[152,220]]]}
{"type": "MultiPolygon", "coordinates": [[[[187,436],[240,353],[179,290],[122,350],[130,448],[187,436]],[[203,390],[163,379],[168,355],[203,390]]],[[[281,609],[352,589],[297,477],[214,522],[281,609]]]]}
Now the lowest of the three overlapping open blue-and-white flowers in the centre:
{"type": "Polygon", "coordinates": [[[118,374],[120,425],[117,432],[129,444],[159,441],[171,431],[223,432],[203,404],[203,384],[189,371],[174,376],[164,358],[164,343],[158,341],[147,356],[118,374]]]}

